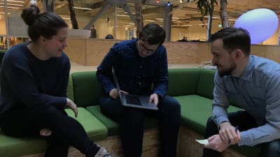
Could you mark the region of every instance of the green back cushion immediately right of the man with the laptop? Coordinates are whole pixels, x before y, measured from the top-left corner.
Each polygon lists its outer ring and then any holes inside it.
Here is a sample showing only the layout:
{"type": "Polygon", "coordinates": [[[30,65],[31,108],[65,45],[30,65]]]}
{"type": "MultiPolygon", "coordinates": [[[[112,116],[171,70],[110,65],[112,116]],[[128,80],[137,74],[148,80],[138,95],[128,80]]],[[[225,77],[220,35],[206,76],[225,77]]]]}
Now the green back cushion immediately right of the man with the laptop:
{"type": "Polygon", "coordinates": [[[169,96],[195,94],[200,77],[200,68],[174,68],[168,70],[169,96]]]}

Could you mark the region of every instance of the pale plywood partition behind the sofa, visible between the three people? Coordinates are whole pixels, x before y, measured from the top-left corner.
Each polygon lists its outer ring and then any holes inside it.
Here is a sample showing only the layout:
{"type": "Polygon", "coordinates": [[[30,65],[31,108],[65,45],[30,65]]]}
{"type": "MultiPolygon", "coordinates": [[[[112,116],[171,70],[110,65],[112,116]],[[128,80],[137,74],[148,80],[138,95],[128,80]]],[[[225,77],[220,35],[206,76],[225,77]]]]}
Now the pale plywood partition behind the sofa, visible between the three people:
{"type": "MultiPolygon", "coordinates": [[[[122,40],[68,38],[65,52],[70,60],[83,66],[99,66],[110,48],[122,40]]],[[[209,43],[165,42],[169,65],[200,64],[211,61],[209,43]]],[[[280,63],[280,46],[251,45],[251,54],[280,63]]]]}

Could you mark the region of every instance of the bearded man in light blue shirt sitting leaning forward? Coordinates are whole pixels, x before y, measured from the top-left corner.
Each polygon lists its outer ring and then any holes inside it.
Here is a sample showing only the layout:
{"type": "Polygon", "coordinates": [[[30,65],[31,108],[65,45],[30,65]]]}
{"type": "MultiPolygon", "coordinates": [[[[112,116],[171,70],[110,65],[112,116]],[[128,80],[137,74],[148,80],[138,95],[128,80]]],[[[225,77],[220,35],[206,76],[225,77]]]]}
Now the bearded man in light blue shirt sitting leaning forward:
{"type": "Polygon", "coordinates": [[[260,144],[260,157],[280,156],[279,63],[250,55],[251,39],[244,29],[221,29],[210,42],[218,71],[203,156],[220,156],[231,144],[260,144]],[[230,99],[244,110],[228,113],[230,99]]]}

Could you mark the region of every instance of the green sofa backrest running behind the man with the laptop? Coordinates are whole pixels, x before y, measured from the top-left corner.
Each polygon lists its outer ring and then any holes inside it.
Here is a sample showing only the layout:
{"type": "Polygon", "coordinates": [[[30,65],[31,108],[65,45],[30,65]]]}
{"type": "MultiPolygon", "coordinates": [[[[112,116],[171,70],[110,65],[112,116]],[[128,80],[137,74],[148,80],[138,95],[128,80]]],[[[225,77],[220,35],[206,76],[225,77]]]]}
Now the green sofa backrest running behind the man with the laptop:
{"type": "MultiPolygon", "coordinates": [[[[168,90],[169,96],[186,96],[197,94],[207,98],[213,98],[214,74],[216,70],[204,68],[169,68],[168,90]]],[[[73,84],[73,90],[68,89],[67,96],[79,107],[98,105],[102,96],[102,87],[97,81],[95,71],[72,73],[69,79],[69,87],[73,84]],[[73,91],[73,94],[70,92],[73,91]]],[[[230,104],[239,107],[234,101],[230,104]]]]}

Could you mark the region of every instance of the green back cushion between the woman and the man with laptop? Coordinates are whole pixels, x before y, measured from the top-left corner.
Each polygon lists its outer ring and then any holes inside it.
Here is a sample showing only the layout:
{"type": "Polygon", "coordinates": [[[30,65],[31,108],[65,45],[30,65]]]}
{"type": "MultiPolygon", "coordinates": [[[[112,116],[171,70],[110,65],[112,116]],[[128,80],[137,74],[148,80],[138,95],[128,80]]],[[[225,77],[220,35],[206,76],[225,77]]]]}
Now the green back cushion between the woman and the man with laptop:
{"type": "Polygon", "coordinates": [[[73,98],[79,107],[99,104],[102,87],[97,81],[95,71],[72,73],[73,98]]]}

